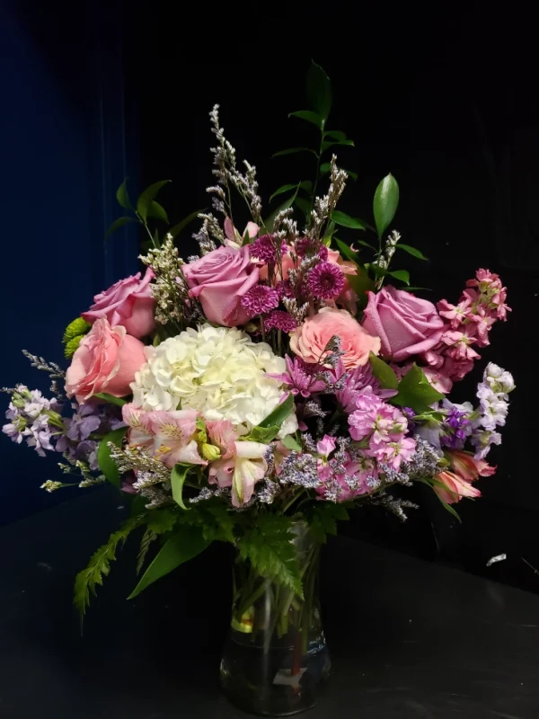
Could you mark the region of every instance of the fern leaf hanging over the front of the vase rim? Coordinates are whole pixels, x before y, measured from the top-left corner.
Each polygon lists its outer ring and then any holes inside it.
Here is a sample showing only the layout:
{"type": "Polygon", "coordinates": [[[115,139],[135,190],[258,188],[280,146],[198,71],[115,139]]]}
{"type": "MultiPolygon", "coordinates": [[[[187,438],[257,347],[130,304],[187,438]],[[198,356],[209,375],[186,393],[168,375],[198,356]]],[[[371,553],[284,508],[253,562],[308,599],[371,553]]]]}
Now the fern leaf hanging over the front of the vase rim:
{"type": "Polygon", "coordinates": [[[260,514],[256,524],[239,540],[238,549],[241,558],[249,560],[261,576],[303,597],[296,548],[292,544],[294,537],[289,518],[280,514],[260,514]]]}

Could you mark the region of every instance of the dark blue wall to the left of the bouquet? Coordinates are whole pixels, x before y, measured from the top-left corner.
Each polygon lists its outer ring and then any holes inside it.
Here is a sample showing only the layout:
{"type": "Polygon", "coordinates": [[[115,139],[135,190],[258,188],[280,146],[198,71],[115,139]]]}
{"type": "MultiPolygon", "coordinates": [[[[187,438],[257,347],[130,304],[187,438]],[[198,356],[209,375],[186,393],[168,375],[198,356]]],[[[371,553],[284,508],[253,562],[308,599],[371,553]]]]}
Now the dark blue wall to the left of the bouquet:
{"type": "MultiPolygon", "coordinates": [[[[126,159],[136,161],[135,125],[126,138],[120,8],[44,5],[4,0],[0,10],[0,386],[42,390],[48,377],[22,348],[65,366],[66,324],[137,267],[135,234],[103,241],[119,214],[114,189],[128,170],[136,174],[126,159]]],[[[72,492],[39,489],[60,478],[59,457],[42,459],[2,436],[0,458],[0,522],[72,492]]]]}

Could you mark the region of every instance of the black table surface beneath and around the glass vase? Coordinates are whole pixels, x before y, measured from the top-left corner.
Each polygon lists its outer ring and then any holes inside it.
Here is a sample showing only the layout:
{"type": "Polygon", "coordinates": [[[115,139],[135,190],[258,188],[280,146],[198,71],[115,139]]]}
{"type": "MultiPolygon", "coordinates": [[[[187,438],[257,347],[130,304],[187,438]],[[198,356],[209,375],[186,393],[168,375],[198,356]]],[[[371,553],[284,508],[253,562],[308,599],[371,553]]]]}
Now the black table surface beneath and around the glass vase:
{"type": "MultiPolygon", "coordinates": [[[[2,719],[241,719],[217,684],[230,555],[212,546],[127,602],[122,550],[84,623],[75,573],[125,517],[94,490],[0,531],[2,719]]],[[[539,717],[539,597],[332,538],[323,620],[333,670],[309,719],[539,717]]]]}

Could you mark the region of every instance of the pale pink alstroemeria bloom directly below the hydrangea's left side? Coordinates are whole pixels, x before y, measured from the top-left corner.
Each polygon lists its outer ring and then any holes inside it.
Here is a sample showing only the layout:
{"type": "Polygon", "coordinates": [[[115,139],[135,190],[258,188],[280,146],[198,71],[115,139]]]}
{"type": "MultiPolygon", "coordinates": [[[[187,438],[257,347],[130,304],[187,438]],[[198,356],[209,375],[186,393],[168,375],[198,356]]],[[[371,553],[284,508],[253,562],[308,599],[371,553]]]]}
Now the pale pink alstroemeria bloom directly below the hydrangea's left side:
{"type": "Polygon", "coordinates": [[[143,412],[132,404],[124,404],[123,420],[131,428],[128,442],[146,451],[172,469],[178,462],[190,465],[208,464],[199,455],[194,439],[197,431],[196,410],[174,412],[143,412]]]}

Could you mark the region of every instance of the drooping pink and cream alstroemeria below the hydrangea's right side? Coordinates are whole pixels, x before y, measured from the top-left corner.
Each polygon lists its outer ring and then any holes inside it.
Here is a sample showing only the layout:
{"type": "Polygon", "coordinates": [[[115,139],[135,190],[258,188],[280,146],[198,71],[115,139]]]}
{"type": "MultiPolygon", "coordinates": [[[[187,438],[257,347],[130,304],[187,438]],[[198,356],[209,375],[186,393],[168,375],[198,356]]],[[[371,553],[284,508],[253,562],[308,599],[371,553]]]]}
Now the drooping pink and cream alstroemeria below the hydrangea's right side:
{"type": "Polygon", "coordinates": [[[221,457],[209,466],[209,484],[232,487],[234,507],[249,502],[254,485],[268,469],[265,456],[268,445],[236,439],[232,422],[207,422],[208,437],[221,449],[221,457]]]}

